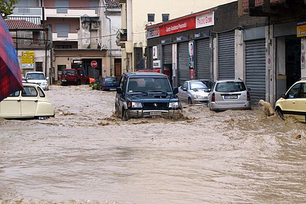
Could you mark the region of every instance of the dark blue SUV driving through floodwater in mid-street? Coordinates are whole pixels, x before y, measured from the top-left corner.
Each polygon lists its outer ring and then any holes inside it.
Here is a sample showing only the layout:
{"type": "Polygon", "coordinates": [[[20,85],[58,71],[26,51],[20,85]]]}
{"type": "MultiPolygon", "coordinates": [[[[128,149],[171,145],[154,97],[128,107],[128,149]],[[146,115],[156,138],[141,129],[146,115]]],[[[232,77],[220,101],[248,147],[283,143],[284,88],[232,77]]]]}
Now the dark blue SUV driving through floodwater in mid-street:
{"type": "Polygon", "coordinates": [[[169,78],[160,73],[134,72],[122,74],[117,88],[115,109],[123,120],[151,116],[177,116],[182,109],[169,78]]]}

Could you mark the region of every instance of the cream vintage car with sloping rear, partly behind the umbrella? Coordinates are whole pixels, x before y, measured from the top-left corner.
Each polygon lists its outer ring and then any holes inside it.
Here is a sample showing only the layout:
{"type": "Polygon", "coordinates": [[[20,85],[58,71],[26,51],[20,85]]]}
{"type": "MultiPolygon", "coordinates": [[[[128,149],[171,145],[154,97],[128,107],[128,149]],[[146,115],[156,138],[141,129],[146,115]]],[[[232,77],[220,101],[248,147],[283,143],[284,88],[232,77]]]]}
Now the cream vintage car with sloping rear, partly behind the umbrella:
{"type": "Polygon", "coordinates": [[[54,116],[54,109],[43,89],[23,83],[23,90],[0,102],[0,118],[44,118],[54,116]]]}

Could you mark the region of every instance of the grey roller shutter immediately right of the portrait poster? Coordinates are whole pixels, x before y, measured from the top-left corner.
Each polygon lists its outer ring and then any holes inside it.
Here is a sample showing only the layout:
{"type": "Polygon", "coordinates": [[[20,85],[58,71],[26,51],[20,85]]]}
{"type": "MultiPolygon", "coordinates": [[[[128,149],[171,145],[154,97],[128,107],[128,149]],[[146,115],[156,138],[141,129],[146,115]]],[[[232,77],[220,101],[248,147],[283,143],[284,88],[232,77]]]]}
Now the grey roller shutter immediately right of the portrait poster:
{"type": "Polygon", "coordinates": [[[210,40],[209,38],[197,40],[195,42],[196,48],[196,62],[195,73],[197,79],[210,79],[210,40]]]}

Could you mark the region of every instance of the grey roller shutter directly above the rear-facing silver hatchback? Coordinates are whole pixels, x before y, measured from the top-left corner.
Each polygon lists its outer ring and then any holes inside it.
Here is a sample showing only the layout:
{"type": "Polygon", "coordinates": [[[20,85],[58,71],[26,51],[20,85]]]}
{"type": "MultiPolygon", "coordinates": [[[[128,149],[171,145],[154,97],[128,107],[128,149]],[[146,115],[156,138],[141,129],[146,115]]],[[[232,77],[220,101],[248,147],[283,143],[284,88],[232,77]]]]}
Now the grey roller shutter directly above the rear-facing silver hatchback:
{"type": "Polygon", "coordinates": [[[235,32],[218,35],[219,79],[235,78],[235,32]]]}

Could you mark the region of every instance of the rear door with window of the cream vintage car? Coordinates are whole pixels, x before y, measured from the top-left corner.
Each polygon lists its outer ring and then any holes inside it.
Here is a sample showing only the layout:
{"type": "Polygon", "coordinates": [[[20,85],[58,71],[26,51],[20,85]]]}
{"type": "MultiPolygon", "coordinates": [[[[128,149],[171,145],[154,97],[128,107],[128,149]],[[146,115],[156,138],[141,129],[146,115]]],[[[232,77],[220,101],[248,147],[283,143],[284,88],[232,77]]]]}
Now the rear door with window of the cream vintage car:
{"type": "Polygon", "coordinates": [[[34,117],[38,102],[35,86],[24,85],[21,91],[21,117],[34,117]]]}

